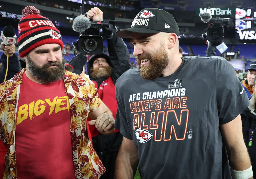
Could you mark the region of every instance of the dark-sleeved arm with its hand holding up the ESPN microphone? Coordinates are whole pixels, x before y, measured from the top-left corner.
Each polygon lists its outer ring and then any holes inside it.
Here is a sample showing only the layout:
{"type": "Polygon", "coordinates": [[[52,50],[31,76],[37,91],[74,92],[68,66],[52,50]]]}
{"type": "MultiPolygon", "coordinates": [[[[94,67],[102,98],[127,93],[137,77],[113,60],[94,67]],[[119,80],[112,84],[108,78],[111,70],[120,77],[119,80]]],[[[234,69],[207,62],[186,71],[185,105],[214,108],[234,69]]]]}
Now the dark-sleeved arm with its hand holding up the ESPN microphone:
{"type": "Polygon", "coordinates": [[[20,71],[20,67],[18,57],[15,55],[15,29],[12,26],[4,27],[1,37],[3,40],[1,49],[4,53],[0,60],[3,63],[3,69],[0,71],[0,83],[3,83],[13,78],[20,71]]]}

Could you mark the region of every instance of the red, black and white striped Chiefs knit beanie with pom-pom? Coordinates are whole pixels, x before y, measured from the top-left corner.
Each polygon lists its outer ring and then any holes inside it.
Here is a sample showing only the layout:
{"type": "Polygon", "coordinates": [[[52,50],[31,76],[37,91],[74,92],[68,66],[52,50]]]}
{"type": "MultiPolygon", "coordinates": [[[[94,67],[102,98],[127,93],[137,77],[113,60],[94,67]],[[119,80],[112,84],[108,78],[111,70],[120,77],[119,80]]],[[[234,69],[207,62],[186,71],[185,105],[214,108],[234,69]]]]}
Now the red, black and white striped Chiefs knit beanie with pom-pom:
{"type": "Polygon", "coordinates": [[[36,47],[44,44],[59,44],[63,49],[60,31],[46,17],[40,16],[40,10],[27,6],[22,11],[23,18],[19,28],[19,55],[26,56],[36,47]]]}

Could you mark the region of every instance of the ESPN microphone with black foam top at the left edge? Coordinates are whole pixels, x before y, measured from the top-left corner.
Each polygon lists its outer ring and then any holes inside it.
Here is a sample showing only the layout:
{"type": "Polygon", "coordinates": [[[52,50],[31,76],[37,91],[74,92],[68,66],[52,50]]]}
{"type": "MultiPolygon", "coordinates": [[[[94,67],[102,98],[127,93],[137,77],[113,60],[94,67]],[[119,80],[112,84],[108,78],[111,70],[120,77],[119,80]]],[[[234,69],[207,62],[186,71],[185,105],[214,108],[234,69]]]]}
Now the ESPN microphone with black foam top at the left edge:
{"type": "Polygon", "coordinates": [[[14,27],[8,25],[1,31],[1,37],[5,45],[14,44],[17,40],[14,27]]]}

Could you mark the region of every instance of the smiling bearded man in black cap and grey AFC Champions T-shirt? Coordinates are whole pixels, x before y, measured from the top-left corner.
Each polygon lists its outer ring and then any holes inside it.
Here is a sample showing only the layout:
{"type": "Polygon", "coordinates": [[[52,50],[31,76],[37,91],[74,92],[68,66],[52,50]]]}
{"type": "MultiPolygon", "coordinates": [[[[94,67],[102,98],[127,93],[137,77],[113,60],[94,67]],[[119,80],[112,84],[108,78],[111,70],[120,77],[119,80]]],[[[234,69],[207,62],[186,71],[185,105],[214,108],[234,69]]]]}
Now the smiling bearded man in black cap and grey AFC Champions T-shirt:
{"type": "Polygon", "coordinates": [[[143,179],[252,178],[240,116],[249,99],[233,66],[180,57],[179,27],[162,9],[141,10],[116,35],[131,39],[138,67],[116,82],[115,128],[124,137],[115,178],[133,178],[137,167],[143,179]]]}

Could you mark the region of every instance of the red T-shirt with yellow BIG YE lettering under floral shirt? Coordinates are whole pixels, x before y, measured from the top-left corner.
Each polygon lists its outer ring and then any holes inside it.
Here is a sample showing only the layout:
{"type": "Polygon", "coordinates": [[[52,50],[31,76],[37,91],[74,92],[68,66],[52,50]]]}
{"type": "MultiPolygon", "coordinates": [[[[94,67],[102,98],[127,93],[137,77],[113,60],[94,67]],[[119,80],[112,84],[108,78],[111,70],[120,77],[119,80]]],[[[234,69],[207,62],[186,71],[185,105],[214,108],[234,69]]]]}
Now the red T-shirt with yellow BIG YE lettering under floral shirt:
{"type": "Polygon", "coordinates": [[[24,73],[17,100],[17,177],[75,178],[70,104],[63,80],[38,84],[24,73]]]}

